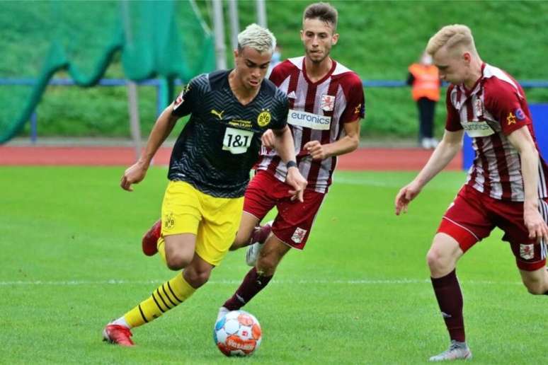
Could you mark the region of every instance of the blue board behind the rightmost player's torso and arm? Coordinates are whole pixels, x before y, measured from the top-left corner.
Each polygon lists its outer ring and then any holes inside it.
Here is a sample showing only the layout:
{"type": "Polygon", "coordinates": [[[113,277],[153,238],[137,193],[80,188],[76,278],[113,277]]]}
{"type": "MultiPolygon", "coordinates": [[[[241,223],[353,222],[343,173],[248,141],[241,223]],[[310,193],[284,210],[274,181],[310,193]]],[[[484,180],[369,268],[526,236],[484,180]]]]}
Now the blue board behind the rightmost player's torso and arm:
{"type": "MultiPolygon", "coordinates": [[[[548,104],[531,104],[531,117],[533,129],[540,149],[540,155],[546,160],[548,157],[548,104]]],[[[476,153],[472,149],[472,139],[464,134],[464,145],[462,146],[462,169],[468,170],[474,162],[476,153]]]]}

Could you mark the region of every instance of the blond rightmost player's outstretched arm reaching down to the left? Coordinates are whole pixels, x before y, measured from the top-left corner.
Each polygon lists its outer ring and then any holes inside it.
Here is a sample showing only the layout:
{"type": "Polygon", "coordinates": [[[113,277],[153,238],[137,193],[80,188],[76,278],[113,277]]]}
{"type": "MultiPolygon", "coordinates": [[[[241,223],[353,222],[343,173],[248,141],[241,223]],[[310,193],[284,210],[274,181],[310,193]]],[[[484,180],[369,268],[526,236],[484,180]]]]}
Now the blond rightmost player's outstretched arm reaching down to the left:
{"type": "Polygon", "coordinates": [[[462,147],[462,135],[464,129],[459,129],[455,132],[450,132],[445,129],[443,139],[440,144],[435,148],[432,156],[428,159],[428,162],[423,167],[420,173],[413,179],[408,185],[399,190],[398,195],[394,201],[396,206],[396,215],[401,212],[407,212],[407,207],[411,200],[413,200],[419,192],[423,189],[435,175],[449,164],[453,158],[457,155],[462,147]]]}

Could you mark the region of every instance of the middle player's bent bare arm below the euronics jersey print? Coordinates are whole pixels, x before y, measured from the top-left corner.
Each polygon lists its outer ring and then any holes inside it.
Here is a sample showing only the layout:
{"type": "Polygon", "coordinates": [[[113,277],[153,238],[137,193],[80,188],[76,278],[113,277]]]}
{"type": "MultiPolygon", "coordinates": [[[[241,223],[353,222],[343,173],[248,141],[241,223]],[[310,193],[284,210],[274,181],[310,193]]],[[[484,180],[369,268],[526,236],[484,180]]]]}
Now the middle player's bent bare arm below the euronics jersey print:
{"type": "Polygon", "coordinates": [[[304,144],[304,149],[310,153],[314,160],[323,160],[331,156],[339,156],[358,148],[360,144],[360,119],[343,124],[345,136],[338,141],[329,144],[321,144],[319,141],[309,141],[304,144]]]}

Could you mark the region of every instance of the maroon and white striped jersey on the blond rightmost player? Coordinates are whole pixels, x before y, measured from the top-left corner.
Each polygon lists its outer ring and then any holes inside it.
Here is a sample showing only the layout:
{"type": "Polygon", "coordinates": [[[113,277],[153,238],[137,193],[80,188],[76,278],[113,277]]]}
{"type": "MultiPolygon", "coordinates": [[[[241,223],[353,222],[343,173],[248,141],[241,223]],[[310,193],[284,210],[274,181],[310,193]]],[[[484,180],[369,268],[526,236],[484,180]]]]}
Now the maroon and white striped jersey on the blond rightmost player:
{"type": "MultiPolygon", "coordinates": [[[[445,129],[464,129],[472,137],[476,157],[468,171],[468,185],[495,199],[523,202],[520,156],[507,136],[525,126],[535,140],[525,93],[505,71],[489,64],[483,64],[481,71],[471,91],[462,84],[447,89],[445,129]]],[[[538,172],[539,197],[547,197],[548,168],[542,158],[538,172]]]]}

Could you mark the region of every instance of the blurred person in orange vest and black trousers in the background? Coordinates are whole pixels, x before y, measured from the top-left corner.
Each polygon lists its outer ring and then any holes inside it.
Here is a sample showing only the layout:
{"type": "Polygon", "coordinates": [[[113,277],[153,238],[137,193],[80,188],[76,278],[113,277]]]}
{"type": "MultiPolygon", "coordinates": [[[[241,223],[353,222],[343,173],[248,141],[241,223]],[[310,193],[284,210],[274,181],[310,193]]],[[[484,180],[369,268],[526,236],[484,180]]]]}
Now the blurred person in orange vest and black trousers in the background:
{"type": "Polygon", "coordinates": [[[423,149],[434,149],[438,146],[434,138],[434,115],[435,103],[440,100],[440,78],[438,67],[432,64],[432,57],[426,52],[418,63],[409,66],[407,84],[418,108],[418,143],[423,149]]]}

